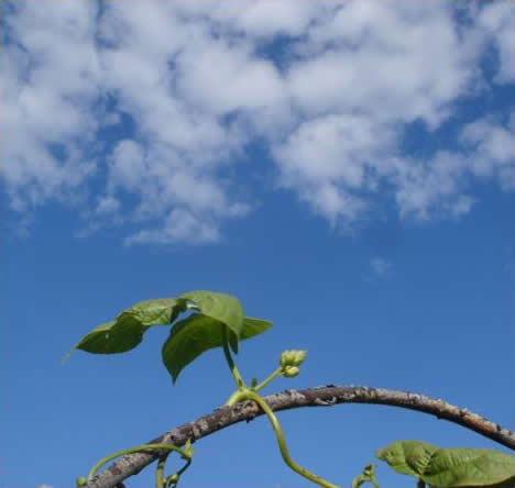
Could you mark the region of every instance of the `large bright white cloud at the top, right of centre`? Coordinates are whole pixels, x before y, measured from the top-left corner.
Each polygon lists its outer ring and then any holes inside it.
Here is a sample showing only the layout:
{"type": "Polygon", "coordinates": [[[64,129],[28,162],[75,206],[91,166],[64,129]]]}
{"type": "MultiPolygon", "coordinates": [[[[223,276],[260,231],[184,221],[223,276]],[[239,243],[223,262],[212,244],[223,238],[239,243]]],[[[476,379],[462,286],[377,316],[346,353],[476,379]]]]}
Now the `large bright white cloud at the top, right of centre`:
{"type": "Polygon", "coordinates": [[[473,81],[467,41],[442,3],[349,2],[297,46],[315,56],[288,74],[294,99],[309,114],[355,111],[436,126],[473,81]]]}

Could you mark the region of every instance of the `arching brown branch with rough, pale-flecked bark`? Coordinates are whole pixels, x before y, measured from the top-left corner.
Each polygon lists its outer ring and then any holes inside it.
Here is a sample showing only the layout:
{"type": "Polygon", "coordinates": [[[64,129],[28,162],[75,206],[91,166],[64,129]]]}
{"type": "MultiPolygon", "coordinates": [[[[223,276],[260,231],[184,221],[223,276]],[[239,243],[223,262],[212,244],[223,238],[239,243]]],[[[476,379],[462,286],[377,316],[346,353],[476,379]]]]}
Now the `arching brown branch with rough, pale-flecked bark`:
{"type": "MultiPolygon", "coordinates": [[[[264,397],[272,410],[288,410],[298,407],[331,407],[339,403],[373,403],[401,407],[429,413],[438,419],[462,425],[478,432],[497,443],[515,451],[515,433],[497,423],[486,420],[467,409],[446,403],[440,399],[432,399],[424,395],[407,391],[386,390],[360,386],[335,386],[308,388],[305,390],[285,390],[282,393],[264,397]]],[[[193,422],[185,423],[165,434],[153,439],[149,443],[174,444],[183,446],[189,439],[195,442],[233,423],[262,415],[263,411],[252,401],[235,404],[233,408],[222,407],[212,413],[204,415],[193,422]]],[[[142,452],[129,454],[100,473],[87,488],[116,488],[129,476],[135,475],[145,466],[157,459],[163,452],[142,452]]],[[[194,461],[195,463],[195,461],[194,461]]]]}

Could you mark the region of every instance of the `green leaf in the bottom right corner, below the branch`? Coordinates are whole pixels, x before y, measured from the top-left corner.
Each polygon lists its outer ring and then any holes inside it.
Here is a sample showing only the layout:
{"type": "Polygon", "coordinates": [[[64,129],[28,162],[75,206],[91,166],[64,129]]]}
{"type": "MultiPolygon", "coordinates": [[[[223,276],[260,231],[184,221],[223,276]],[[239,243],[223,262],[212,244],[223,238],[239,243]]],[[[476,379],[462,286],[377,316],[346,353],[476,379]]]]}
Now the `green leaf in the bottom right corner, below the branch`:
{"type": "Polygon", "coordinates": [[[483,448],[438,448],[419,441],[398,441],[377,451],[397,473],[430,486],[515,487],[515,456],[483,448]]]}

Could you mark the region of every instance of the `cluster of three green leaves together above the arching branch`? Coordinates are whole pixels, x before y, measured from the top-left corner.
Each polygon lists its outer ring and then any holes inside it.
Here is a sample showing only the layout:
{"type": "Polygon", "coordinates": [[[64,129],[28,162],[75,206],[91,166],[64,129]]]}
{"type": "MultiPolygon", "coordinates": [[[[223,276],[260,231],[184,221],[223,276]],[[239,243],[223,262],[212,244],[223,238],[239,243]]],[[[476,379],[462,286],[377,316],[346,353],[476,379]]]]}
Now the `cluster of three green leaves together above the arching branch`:
{"type": "Polygon", "coordinates": [[[232,350],[238,352],[239,341],[261,334],[272,326],[265,320],[243,317],[243,309],[233,297],[197,290],[176,299],[136,303],[114,320],[95,328],[70,353],[76,348],[95,354],[124,353],[140,344],[150,326],[171,324],[187,310],[200,313],[177,322],[163,345],[163,361],[174,382],[180,370],[201,353],[223,345],[224,330],[229,333],[232,350]]]}

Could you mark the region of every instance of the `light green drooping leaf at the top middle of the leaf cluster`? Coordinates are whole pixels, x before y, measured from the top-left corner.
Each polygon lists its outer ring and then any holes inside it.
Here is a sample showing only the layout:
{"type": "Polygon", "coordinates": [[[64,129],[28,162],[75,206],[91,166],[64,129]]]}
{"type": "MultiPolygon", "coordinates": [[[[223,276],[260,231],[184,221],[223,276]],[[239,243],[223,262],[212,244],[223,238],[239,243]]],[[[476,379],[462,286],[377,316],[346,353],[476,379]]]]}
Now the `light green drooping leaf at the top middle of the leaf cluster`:
{"type": "Polygon", "coordinates": [[[229,329],[229,344],[238,353],[238,342],[243,329],[243,307],[237,298],[206,290],[189,291],[180,298],[193,301],[204,315],[226,324],[229,329]]]}

